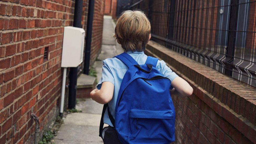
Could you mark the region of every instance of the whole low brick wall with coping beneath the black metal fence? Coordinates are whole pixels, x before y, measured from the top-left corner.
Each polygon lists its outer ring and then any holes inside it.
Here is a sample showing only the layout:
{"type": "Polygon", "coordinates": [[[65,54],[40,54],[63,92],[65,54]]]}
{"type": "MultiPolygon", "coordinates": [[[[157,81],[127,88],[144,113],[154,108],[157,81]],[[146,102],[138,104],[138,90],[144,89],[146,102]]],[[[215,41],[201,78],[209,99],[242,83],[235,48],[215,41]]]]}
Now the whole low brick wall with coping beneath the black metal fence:
{"type": "Polygon", "coordinates": [[[164,60],[194,89],[187,98],[172,96],[175,143],[256,143],[256,89],[152,41],[145,54],[164,60]]]}

